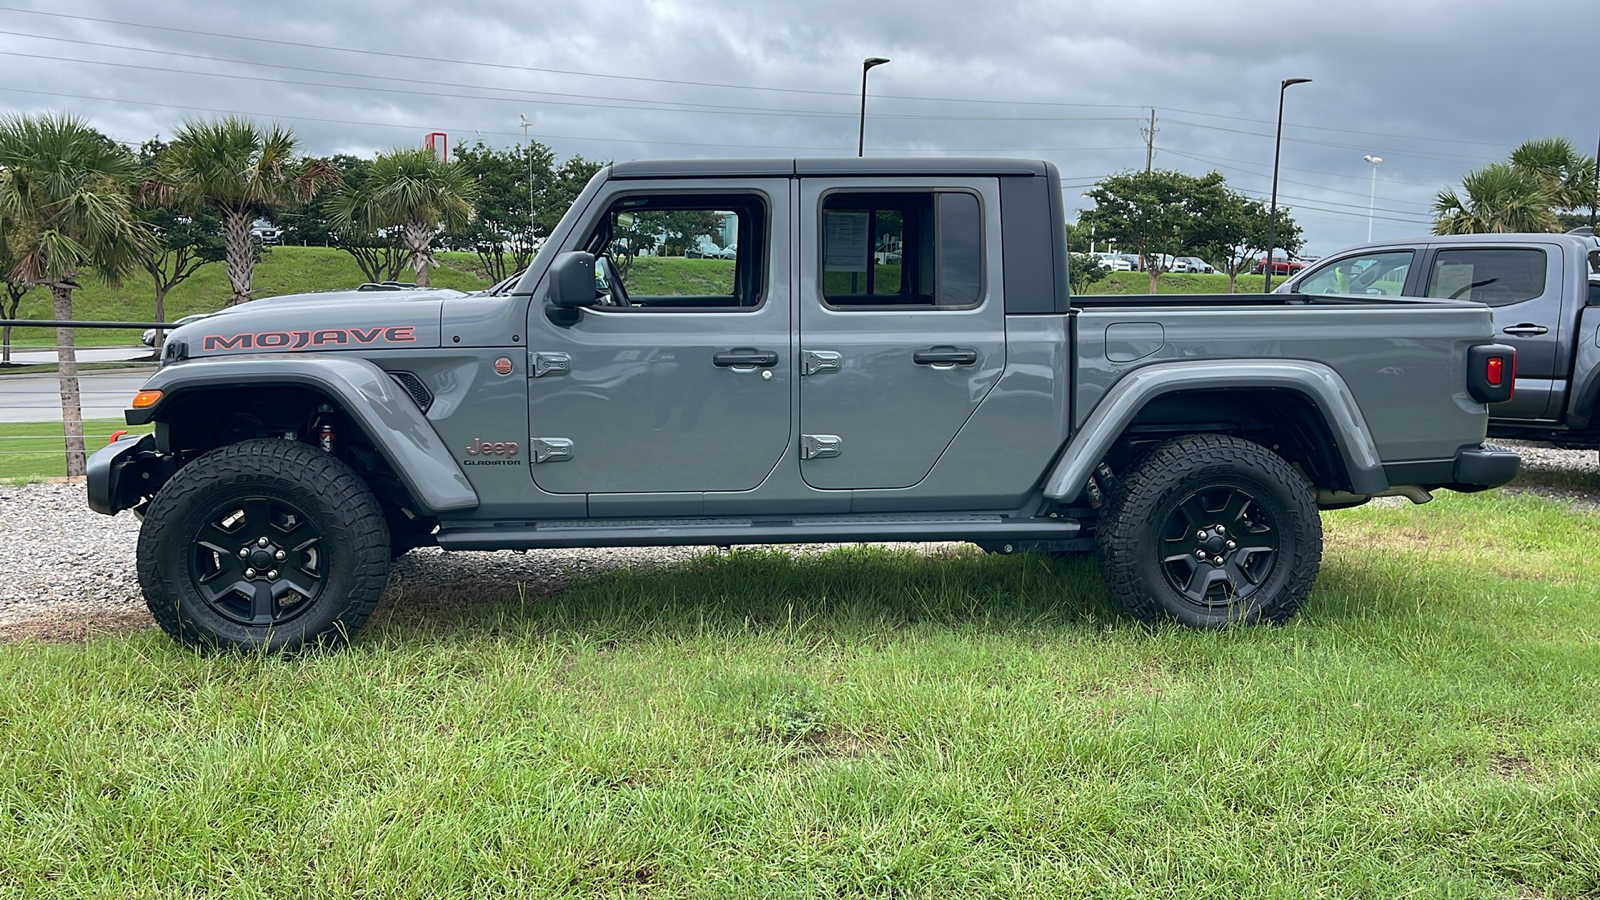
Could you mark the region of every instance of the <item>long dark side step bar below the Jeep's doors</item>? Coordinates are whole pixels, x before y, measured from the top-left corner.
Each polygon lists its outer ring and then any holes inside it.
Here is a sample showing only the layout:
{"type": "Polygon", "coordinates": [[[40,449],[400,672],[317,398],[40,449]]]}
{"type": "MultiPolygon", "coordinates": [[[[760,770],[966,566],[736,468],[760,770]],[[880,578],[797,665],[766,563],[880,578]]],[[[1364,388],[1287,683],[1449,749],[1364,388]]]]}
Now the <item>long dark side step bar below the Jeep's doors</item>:
{"type": "Polygon", "coordinates": [[[797,544],[872,541],[1059,541],[1074,519],[1005,516],[795,516],[758,519],[573,519],[443,527],[445,549],[563,549],[586,546],[797,544]]]}

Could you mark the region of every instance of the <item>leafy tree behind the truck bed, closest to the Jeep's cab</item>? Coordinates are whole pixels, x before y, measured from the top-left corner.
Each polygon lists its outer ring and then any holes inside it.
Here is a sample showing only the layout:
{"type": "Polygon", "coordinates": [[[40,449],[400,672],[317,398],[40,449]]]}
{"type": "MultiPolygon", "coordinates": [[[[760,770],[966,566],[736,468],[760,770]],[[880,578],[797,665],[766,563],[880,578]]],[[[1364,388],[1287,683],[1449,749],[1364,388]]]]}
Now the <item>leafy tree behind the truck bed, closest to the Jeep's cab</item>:
{"type": "Polygon", "coordinates": [[[1155,293],[1166,259],[1184,253],[1200,223],[1222,202],[1222,184],[1214,171],[1200,178],[1160,168],[1112,175],[1088,192],[1094,208],[1078,218],[1078,226],[1093,226],[1099,237],[1136,248],[1155,293]]]}

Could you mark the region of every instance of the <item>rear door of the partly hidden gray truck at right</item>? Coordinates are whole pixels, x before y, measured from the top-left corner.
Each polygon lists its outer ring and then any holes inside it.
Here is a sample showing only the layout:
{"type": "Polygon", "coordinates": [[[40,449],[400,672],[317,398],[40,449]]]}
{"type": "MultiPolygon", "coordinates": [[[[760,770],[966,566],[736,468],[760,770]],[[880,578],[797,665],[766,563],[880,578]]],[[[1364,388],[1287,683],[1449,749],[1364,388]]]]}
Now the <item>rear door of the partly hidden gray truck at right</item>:
{"type": "Polygon", "coordinates": [[[1494,311],[1494,338],[1517,348],[1517,384],[1509,402],[1490,407],[1493,418],[1542,420],[1557,415],[1566,396],[1562,352],[1562,247],[1435,245],[1424,296],[1472,299],[1494,311]]]}

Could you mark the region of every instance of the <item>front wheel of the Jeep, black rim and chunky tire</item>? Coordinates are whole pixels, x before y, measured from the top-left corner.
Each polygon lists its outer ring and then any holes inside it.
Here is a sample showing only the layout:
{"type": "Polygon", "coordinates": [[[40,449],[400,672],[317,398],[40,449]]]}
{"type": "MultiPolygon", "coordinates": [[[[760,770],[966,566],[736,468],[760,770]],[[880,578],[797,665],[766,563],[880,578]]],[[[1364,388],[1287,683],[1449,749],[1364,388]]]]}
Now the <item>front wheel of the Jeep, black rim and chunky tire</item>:
{"type": "Polygon", "coordinates": [[[378,498],[336,456],[245,440],[182,469],[139,530],[139,586],[184,644],[234,650],[338,645],[389,578],[378,498]]]}

